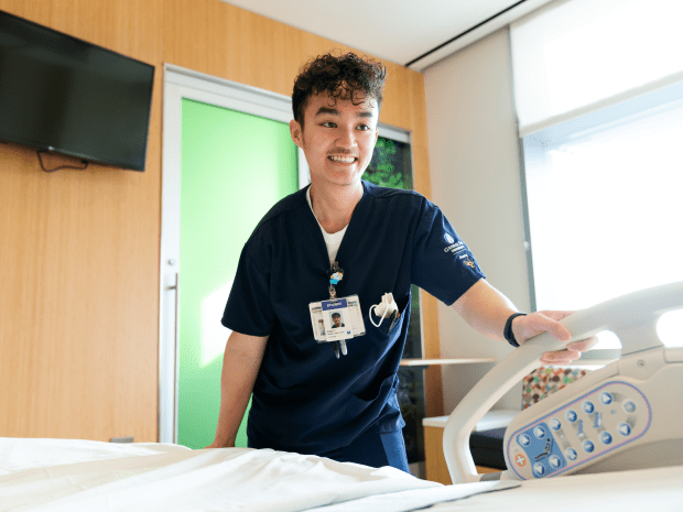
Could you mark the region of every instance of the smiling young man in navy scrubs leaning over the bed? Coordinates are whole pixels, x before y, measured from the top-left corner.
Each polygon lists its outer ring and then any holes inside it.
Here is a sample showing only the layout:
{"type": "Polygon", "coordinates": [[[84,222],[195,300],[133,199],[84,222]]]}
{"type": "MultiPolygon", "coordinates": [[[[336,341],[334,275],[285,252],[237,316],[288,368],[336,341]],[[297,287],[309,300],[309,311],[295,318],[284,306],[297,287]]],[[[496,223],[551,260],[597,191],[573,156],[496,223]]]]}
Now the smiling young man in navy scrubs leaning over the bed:
{"type": "MultiPolygon", "coordinates": [[[[311,186],[278,203],[242,251],[223,318],[232,334],[210,447],[234,446],[253,392],[250,447],[408,471],[397,372],[411,284],[491,338],[503,339],[506,331],[521,344],[545,330],[570,338],[556,322],[567,313],[516,317],[435,205],[361,181],[378,137],[384,77],[381,63],[347,54],[317,57],[295,80],[290,131],[305,153],[311,186]],[[347,353],[339,358],[316,341],[310,308],[330,298],[334,262],[340,268],[334,292],[358,296],[367,329],[345,339],[347,353]],[[387,293],[398,318],[370,312],[387,293]]],[[[568,362],[584,345],[570,348],[545,360],[568,362]]]]}

